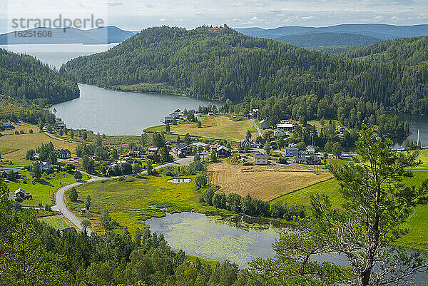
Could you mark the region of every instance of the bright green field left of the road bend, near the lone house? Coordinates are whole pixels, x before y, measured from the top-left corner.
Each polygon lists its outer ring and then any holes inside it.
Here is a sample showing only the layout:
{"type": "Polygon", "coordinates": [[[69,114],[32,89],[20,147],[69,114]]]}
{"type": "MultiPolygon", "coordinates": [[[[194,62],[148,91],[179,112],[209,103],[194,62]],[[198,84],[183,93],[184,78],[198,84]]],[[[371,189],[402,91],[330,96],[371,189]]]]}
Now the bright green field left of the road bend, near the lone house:
{"type": "Polygon", "coordinates": [[[61,173],[52,173],[45,175],[38,182],[32,182],[32,177],[27,170],[19,170],[21,175],[25,175],[27,180],[19,179],[16,182],[6,183],[9,188],[10,195],[13,195],[15,190],[18,188],[23,188],[27,193],[33,195],[31,200],[23,200],[22,205],[24,206],[38,206],[39,203],[42,205],[55,205],[55,193],[61,185],[68,185],[76,182],[74,179],[73,172],[61,172],[61,173]],[[24,183],[26,181],[26,183],[24,183]],[[60,185],[61,181],[61,185],[60,185]]]}

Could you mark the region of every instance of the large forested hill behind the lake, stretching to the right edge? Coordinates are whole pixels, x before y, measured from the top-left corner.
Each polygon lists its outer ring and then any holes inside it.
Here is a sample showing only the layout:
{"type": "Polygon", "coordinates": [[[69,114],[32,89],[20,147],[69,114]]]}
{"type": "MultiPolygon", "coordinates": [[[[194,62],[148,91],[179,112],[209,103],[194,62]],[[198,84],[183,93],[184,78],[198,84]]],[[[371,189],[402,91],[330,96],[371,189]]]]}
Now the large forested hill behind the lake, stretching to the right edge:
{"type": "MultiPolygon", "coordinates": [[[[420,48],[420,47],[415,47],[420,48]]],[[[354,61],[239,34],[227,26],[143,30],[110,50],[73,59],[61,71],[83,83],[165,83],[188,96],[295,98],[342,93],[395,111],[428,113],[424,66],[354,61]]]]}

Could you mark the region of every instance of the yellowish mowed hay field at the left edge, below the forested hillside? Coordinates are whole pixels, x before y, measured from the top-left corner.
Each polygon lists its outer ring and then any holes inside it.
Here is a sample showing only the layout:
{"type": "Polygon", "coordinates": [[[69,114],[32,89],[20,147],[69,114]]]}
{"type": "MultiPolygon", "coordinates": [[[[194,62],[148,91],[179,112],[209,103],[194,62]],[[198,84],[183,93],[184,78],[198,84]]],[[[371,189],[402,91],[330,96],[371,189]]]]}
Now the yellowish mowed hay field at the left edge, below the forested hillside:
{"type": "MultiPolygon", "coordinates": [[[[33,128],[33,131],[34,128],[33,128]]],[[[38,132],[35,131],[35,132],[38,132]]],[[[60,140],[56,140],[54,138],[50,138],[44,133],[26,133],[26,134],[5,134],[0,137],[0,153],[1,158],[6,160],[26,160],[26,151],[29,149],[36,150],[42,143],[49,143],[52,141],[56,149],[67,148],[74,152],[76,148],[75,143],[64,142],[60,140]]]]}

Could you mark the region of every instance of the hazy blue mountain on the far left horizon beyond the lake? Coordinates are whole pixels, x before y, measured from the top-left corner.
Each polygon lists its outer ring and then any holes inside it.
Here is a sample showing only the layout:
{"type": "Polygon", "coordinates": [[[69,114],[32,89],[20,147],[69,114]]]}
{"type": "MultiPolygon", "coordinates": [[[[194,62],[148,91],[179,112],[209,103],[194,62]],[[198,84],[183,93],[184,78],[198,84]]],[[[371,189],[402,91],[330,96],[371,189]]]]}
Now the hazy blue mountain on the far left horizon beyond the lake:
{"type": "Polygon", "coordinates": [[[136,33],[135,31],[119,29],[116,26],[105,26],[89,30],[72,27],[66,29],[35,28],[1,34],[0,44],[111,44],[121,43],[136,33]],[[23,36],[19,36],[18,33],[23,36]]]}

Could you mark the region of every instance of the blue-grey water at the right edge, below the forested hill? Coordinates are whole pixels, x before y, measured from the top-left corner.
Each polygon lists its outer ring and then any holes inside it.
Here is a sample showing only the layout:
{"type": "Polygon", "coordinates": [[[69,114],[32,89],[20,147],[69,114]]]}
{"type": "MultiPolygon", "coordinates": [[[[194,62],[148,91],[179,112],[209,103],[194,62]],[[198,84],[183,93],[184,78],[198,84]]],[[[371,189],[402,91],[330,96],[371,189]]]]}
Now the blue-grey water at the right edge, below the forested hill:
{"type": "MultiPolygon", "coordinates": [[[[414,114],[397,113],[399,121],[409,122],[410,135],[407,137],[410,141],[417,141],[417,131],[422,146],[428,145],[428,116],[418,116],[414,114]]],[[[403,148],[406,138],[394,138],[394,148],[403,148]]]]}

